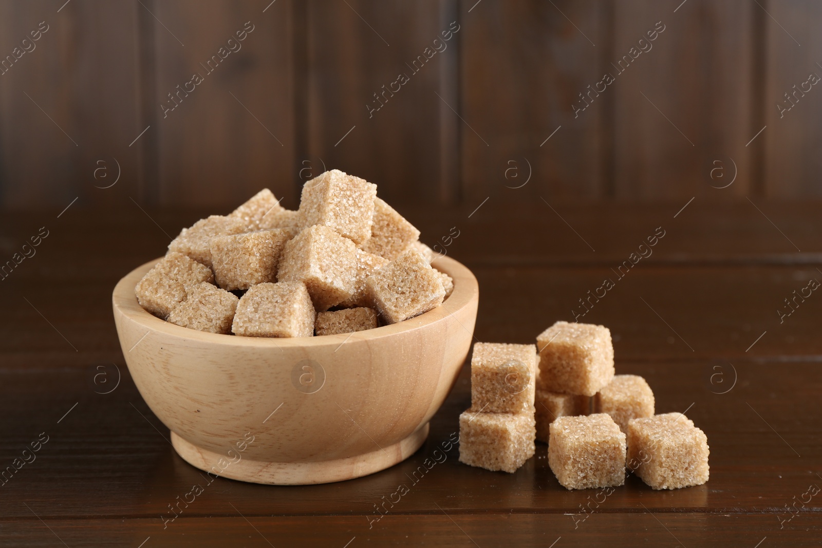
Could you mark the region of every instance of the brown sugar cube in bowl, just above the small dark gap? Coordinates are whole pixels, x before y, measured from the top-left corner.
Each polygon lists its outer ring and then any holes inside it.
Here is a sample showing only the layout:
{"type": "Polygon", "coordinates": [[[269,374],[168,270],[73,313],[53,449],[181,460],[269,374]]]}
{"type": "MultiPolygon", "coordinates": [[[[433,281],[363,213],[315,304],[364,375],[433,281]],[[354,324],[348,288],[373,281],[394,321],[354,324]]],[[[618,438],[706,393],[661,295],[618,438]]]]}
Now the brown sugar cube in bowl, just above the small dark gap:
{"type": "Polygon", "coordinates": [[[232,290],[277,281],[279,255],[290,239],[291,233],[280,229],[211,238],[217,285],[232,290]]]}

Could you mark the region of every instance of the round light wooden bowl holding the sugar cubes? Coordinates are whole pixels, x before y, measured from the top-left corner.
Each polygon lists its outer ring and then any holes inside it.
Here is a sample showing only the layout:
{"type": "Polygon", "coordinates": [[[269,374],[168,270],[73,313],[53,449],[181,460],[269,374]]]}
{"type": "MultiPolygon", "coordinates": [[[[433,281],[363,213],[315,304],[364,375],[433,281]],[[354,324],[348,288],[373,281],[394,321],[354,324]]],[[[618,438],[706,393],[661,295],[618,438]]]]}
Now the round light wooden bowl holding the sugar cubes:
{"type": "MultiPolygon", "coordinates": [[[[159,259],[158,259],[159,260],[159,259]]],[[[477,279],[454,279],[442,306],[353,334],[254,338],[173,325],[144,311],[134,286],[114,288],[128,370],[178,454],[217,476],[271,484],[347,480],[408,458],[453,387],[477,319],[477,279]]]]}

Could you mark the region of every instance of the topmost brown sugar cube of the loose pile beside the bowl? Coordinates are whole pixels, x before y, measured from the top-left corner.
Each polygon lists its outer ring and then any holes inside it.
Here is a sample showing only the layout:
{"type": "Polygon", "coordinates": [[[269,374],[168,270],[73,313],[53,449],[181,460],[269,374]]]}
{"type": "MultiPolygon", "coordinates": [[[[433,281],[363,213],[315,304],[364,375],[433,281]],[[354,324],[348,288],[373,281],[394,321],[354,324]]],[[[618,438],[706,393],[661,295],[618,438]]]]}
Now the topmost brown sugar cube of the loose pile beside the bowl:
{"type": "Polygon", "coordinates": [[[593,396],[614,376],[611,331],[602,325],[558,321],[537,335],[539,388],[593,396]]]}

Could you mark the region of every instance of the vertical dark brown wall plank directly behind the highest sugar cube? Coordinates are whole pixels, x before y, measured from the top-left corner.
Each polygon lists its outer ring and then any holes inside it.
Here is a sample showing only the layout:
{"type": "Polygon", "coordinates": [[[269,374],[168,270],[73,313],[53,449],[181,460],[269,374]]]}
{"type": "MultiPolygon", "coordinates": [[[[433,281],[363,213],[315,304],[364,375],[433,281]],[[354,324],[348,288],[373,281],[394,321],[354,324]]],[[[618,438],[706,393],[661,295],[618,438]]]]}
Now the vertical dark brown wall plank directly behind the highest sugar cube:
{"type": "Polygon", "coordinates": [[[459,109],[451,69],[464,29],[441,34],[453,3],[308,4],[306,176],[342,169],[399,209],[454,199],[454,113],[442,100],[459,109]]]}

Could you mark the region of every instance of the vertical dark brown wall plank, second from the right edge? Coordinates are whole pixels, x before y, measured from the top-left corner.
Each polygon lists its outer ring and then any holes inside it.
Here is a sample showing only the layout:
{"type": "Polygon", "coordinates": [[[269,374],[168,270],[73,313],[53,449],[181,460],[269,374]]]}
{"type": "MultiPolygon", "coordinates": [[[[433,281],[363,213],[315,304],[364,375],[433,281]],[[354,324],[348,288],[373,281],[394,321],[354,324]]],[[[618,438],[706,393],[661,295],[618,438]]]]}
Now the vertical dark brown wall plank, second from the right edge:
{"type": "Polygon", "coordinates": [[[604,94],[615,105],[618,198],[749,192],[755,9],[742,0],[614,3],[614,81],[604,94]]]}

